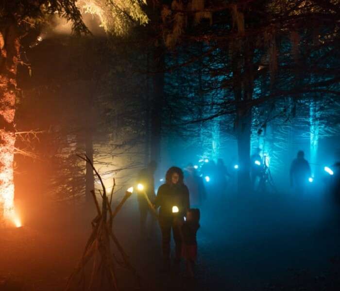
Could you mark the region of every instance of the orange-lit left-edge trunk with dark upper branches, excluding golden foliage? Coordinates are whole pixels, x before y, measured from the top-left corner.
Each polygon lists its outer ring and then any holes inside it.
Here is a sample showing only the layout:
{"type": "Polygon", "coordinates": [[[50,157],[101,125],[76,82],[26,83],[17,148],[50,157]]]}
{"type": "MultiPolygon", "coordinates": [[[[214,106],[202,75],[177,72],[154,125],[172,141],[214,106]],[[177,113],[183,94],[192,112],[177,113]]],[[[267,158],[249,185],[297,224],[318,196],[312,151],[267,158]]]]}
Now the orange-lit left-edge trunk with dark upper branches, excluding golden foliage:
{"type": "Polygon", "coordinates": [[[73,31],[88,32],[76,0],[2,1],[0,3],[0,218],[21,226],[14,209],[13,161],[20,36],[46,15],[64,16],[73,31]],[[25,9],[22,9],[24,7],[25,9]]]}

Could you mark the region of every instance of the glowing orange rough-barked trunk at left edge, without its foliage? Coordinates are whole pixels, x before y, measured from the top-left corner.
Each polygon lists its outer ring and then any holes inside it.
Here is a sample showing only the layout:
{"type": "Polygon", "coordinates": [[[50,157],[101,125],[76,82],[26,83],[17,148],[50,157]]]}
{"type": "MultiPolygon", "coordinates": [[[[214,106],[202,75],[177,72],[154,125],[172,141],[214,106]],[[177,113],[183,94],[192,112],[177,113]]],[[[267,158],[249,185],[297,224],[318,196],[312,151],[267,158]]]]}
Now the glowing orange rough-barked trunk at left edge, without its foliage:
{"type": "Polygon", "coordinates": [[[14,215],[13,160],[17,64],[20,42],[14,22],[0,28],[0,203],[3,216],[14,215]]]}

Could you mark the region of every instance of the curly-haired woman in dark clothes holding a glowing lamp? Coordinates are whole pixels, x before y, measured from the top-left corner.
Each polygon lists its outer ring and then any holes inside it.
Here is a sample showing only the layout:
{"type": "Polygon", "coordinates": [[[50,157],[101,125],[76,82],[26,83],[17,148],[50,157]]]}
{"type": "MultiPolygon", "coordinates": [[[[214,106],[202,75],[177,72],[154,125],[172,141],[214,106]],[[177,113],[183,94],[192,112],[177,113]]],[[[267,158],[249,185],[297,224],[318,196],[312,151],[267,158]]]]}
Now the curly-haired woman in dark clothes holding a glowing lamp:
{"type": "Polygon", "coordinates": [[[182,251],[180,226],[190,208],[189,191],[183,181],[183,172],[171,167],[166,174],[166,183],[158,188],[155,209],[159,209],[159,225],[162,232],[164,270],[170,269],[171,229],[175,241],[175,263],[179,263],[182,251]]]}

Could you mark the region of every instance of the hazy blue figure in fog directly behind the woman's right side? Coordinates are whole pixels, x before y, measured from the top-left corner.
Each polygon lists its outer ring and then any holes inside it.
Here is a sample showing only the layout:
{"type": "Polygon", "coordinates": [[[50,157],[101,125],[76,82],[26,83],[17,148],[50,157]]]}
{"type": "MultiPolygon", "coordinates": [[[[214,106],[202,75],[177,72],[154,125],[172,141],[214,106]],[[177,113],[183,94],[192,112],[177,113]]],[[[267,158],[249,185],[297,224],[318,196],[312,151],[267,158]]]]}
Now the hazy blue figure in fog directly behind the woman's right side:
{"type": "Polygon", "coordinates": [[[199,207],[206,198],[203,178],[197,175],[191,163],[187,165],[185,173],[184,181],[189,190],[191,207],[199,207]]]}

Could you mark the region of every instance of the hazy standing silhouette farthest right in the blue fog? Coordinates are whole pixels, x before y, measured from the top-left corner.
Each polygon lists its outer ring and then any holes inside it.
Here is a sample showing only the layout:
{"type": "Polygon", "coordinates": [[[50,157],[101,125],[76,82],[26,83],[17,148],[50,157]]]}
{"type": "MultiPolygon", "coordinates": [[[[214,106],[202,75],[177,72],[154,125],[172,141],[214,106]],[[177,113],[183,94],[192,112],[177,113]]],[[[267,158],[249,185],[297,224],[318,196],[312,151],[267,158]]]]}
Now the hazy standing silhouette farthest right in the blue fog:
{"type": "Polygon", "coordinates": [[[304,194],[308,178],[311,177],[309,163],[305,159],[305,153],[300,150],[296,159],[290,165],[290,186],[295,188],[297,194],[304,194]]]}

